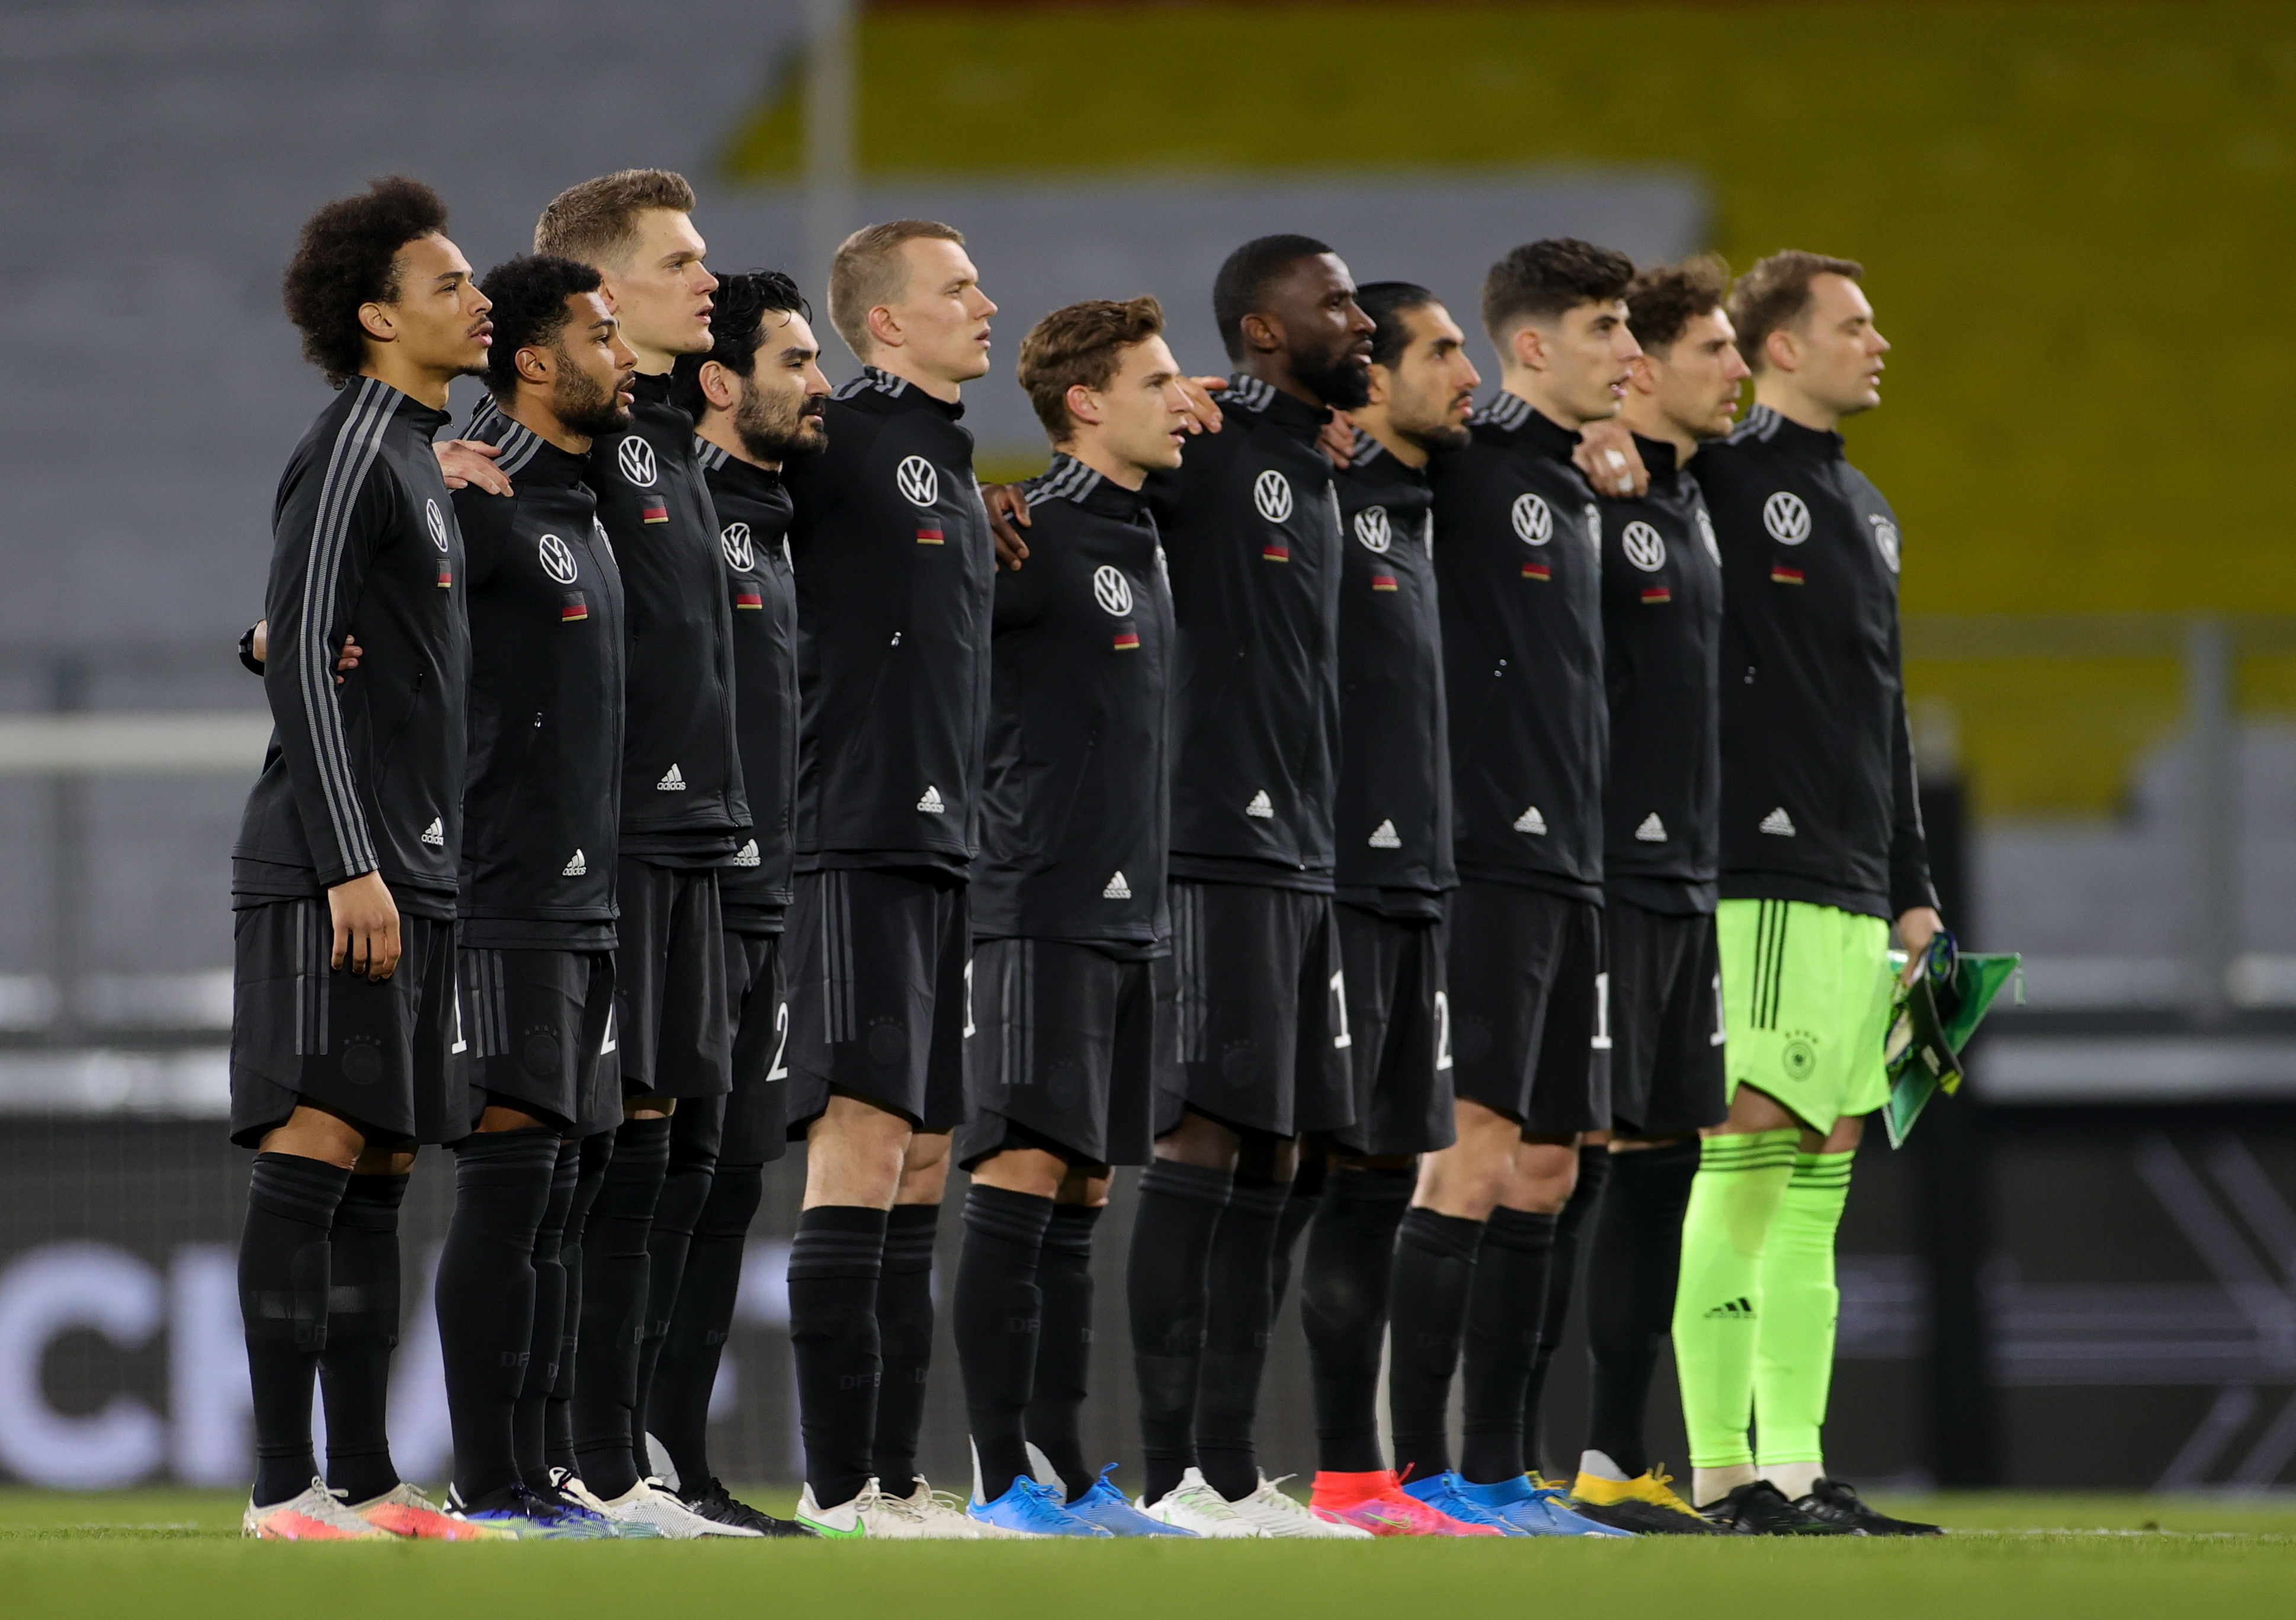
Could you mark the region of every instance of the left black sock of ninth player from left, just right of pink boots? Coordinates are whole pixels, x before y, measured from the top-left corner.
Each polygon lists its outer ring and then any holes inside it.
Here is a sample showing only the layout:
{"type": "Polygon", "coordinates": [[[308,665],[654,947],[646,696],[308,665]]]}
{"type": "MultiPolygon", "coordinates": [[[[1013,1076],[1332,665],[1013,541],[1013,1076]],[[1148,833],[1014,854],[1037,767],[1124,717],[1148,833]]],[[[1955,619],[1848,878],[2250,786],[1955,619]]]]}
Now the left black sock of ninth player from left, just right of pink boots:
{"type": "Polygon", "coordinates": [[[1396,1269],[1387,1292],[1387,1407],[1396,1473],[1405,1480],[1451,1471],[1451,1374],[1458,1370],[1481,1246],[1481,1221],[1433,1209],[1405,1209],[1396,1228],[1396,1269]]]}

